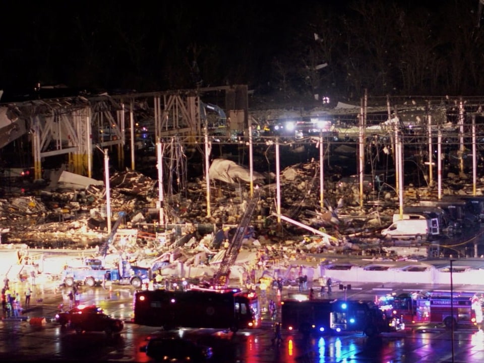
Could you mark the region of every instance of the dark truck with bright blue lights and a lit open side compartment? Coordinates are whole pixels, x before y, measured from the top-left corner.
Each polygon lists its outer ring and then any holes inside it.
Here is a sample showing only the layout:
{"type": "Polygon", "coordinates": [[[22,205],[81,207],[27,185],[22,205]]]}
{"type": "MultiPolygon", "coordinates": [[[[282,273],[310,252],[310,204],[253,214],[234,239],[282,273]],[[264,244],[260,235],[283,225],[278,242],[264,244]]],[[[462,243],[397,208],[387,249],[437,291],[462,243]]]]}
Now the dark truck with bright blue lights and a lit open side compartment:
{"type": "Polygon", "coordinates": [[[298,300],[281,301],[282,329],[304,334],[364,332],[375,336],[405,328],[398,318],[388,318],[373,301],[298,300]]]}

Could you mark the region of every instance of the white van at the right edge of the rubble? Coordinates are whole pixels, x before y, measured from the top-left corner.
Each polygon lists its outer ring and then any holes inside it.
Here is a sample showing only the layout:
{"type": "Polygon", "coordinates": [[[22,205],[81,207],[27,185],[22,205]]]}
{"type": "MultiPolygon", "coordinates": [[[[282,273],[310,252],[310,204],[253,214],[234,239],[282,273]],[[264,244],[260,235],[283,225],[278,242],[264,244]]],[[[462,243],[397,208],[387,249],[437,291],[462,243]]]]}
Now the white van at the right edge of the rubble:
{"type": "Polygon", "coordinates": [[[428,238],[439,234],[439,220],[437,218],[400,219],[382,230],[385,238],[428,238]]]}

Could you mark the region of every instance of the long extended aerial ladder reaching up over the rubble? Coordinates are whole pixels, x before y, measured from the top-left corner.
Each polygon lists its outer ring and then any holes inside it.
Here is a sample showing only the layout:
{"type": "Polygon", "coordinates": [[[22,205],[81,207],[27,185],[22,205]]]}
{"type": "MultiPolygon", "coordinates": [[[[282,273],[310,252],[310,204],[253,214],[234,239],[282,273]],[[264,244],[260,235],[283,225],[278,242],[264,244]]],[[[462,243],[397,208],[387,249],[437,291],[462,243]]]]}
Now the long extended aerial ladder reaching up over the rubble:
{"type": "Polygon", "coordinates": [[[256,189],[254,191],[254,195],[250,200],[246,212],[242,217],[240,224],[237,226],[237,230],[232,237],[232,241],[225,251],[225,255],[223,256],[222,262],[220,263],[220,267],[218,271],[215,273],[214,276],[214,285],[217,287],[226,287],[228,285],[228,275],[230,274],[230,268],[233,266],[235,259],[237,258],[238,252],[240,251],[240,247],[242,246],[242,240],[247,231],[247,227],[249,226],[252,218],[252,213],[256,209],[257,202],[259,201],[259,197],[261,195],[262,189],[256,189]]]}

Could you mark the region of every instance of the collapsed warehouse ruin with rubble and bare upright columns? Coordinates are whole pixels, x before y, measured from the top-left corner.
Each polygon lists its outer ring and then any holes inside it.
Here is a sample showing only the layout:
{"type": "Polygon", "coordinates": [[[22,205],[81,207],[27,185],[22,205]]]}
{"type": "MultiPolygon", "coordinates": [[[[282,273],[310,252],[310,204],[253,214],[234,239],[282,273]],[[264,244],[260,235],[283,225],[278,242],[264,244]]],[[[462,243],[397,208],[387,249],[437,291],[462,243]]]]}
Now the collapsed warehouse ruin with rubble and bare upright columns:
{"type": "MultiPolygon", "coordinates": [[[[159,102],[159,95],[156,94],[154,97],[159,102]]],[[[123,101],[122,98],[120,100],[123,101]]],[[[74,112],[78,112],[85,107],[87,100],[83,98],[79,102],[81,102],[81,106],[70,100],[66,104],[63,103],[61,107],[69,108],[74,105],[77,107],[74,112]]],[[[119,110],[123,107],[116,104],[118,99],[109,99],[109,102],[107,106],[114,107],[119,117],[119,110]]],[[[40,106],[45,108],[44,103],[44,101],[40,102],[40,106]]],[[[104,104],[104,106],[106,105],[104,104]]],[[[257,264],[260,261],[257,253],[261,251],[290,265],[293,263],[301,265],[317,263],[323,254],[330,253],[401,258],[401,254],[397,252],[399,246],[396,246],[400,241],[387,241],[379,237],[380,230],[393,221],[399,204],[416,205],[422,200],[436,200],[436,196],[441,193],[472,195],[475,194],[475,189],[480,190],[482,180],[480,178],[471,180],[470,175],[466,175],[461,169],[461,172],[447,172],[446,179],[441,185],[440,181],[437,184],[432,177],[429,180],[427,175],[422,175],[422,168],[417,168],[416,170],[420,171],[414,174],[422,176],[422,180],[425,181],[424,186],[406,184],[405,190],[402,189],[399,193],[389,185],[390,179],[387,177],[390,170],[388,168],[385,170],[385,178],[377,183],[379,175],[374,172],[374,160],[382,159],[380,161],[382,163],[383,155],[385,158],[389,158],[388,155],[391,154],[389,148],[395,148],[395,144],[392,144],[392,130],[400,130],[410,140],[405,145],[409,145],[412,150],[415,149],[414,155],[411,155],[415,159],[411,161],[423,165],[426,158],[429,157],[429,155],[426,156],[425,148],[421,146],[422,140],[426,137],[426,126],[432,129],[438,124],[440,130],[446,131],[449,139],[450,136],[455,138],[454,133],[458,126],[455,120],[456,114],[461,114],[456,112],[462,110],[462,115],[464,115],[464,108],[459,105],[454,106],[450,106],[454,113],[448,118],[442,111],[445,107],[439,105],[437,111],[432,112],[432,120],[435,125],[430,124],[430,117],[428,124],[423,122],[426,115],[430,114],[426,107],[406,107],[406,110],[397,110],[395,107],[395,111],[388,111],[388,114],[387,107],[384,107],[383,113],[374,115],[375,124],[367,124],[365,127],[365,130],[371,135],[360,140],[360,145],[368,141],[362,152],[361,150],[356,151],[356,148],[352,146],[360,139],[364,125],[350,124],[349,119],[338,116],[336,111],[337,119],[331,128],[328,128],[324,137],[322,132],[319,132],[319,135],[318,133],[316,135],[274,134],[274,129],[271,127],[282,125],[283,122],[280,121],[282,116],[275,116],[273,111],[260,111],[261,114],[266,114],[265,116],[253,112],[253,119],[265,120],[265,122],[258,123],[258,126],[269,124],[267,131],[265,125],[258,128],[257,137],[260,141],[255,147],[259,149],[258,156],[256,156],[259,157],[259,164],[262,164],[260,160],[264,157],[272,160],[267,162],[271,166],[269,168],[271,171],[261,172],[260,170],[263,168],[258,165],[259,171],[257,172],[231,160],[215,157],[210,162],[209,170],[206,170],[208,174],[205,175],[205,180],[198,178],[188,180],[187,165],[183,160],[186,156],[180,147],[181,143],[175,137],[163,138],[162,153],[166,159],[163,165],[166,167],[155,168],[158,165],[155,165],[156,157],[152,155],[153,148],[146,158],[148,162],[145,170],[150,170],[150,175],[154,169],[158,169],[158,172],[168,170],[168,173],[164,175],[164,178],[167,179],[167,193],[163,196],[164,200],[160,198],[158,181],[133,169],[126,169],[124,172],[116,171],[109,175],[107,178],[109,182],[107,182],[107,180],[95,180],[79,175],[79,173],[69,172],[71,165],[60,167],[52,170],[51,174],[45,178],[49,181],[48,185],[41,185],[31,193],[27,193],[29,195],[22,195],[25,192],[20,185],[9,186],[9,194],[14,196],[0,201],[3,211],[0,218],[2,225],[5,226],[2,229],[2,241],[4,244],[24,243],[30,247],[41,248],[100,246],[103,241],[110,238],[112,227],[110,218],[114,218],[117,227],[114,230],[116,236],[112,237],[110,245],[112,252],[129,250],[129,253],[133,255],[133,260],[146,261],[156,269],[166,269],[167,274],[170,273],[169,271],[173,272],[174,268],[178,268],[178,273],[180,273],[179,265],[177,265],[180,262],[183,262],[184,266],[193,267],[191,273],[195,273],[195,268],[199,266],[202,267],[202,270],[207,268],[213,270],[223,260],[226,240],[233,238],[233,233],[236,232],[240,219],[243,218],[248,203],[252,199],[255,184],[260,189],[260,198],[257,200],[254,213],[250,216],[250,228],[244,235],[240,254],[234,261],[235,267],[248,269],[249,266],[257,264]],[[271,123],[272,118],[277,118],[278,123],[271,123]],[[378,118],[381,118],[380,123],[377,122],[378,118]],[[300,135],[304,139],[300,139],[300,135]],[[334,142],[335,139],[341,142],[334,142]],[[276,145],[277,148],[279,141],[281,147],[283,145],[287,149],[283,154],[284,164],[288,164],[288,160],[292,159],[303,159],[304,161],[293,163],[283,168],[280,173],[274,173],[272,166],[277,157],[274,155],[273,145],[276,145]],[[318,152],[315,151],[318,150],[318,145],[323,144],[322,141],[325,144],[324,155],[320,160],[316,160],[318,152]],[[311,154],[308,152],[309,149],[312,149],[311,154]],[[367,153],[372,163],[372,174],[370,184],[361,187],[359,177],[343,177],[342,168],[347,164],[357,168],[355,159],[361,159],[361,156],[357,155],[367,153]],[[294,157],[296,155],[297,157],[294,157]],[[335,155],[339,158],[337,161],[333,158],[335,155]],[[320,193],[323,165],[326,175],[323,188],[324,200],[320,193]],[[109,187],[106,188],[106,185],[109,187]],[[210,202],[207,203],[207,200],[210,202]],[[160,223],[166,216],[169,218],[160,223]],[[122,246],[120,247],[119,244],[122,246]],[[244,254],[244,252],[248,254],[244,254]]],[[[53,107],[52,103],[49,104],[49,107],[47,108],[53,107]]],[[[141,106],[138,103],[130,104],[129,112],[133,114],[136,107],[141,106]]],[[[363,119],[356,114],[359,112],[359,108],[357,108],[358,111],[355,111],[354,106],[352,107],[348,113],[350,118],[363,119]]],[[[146,107],[141,108],[146,112],[146,107]]],[[[103,114],[107,113],[107,109],[110,108],[100,108],[101,112],[104,112],[103,114]]],[[[326,110],[319,113],[327,116],[326,110]]],[[[78,116],[78,113],[75,114],[78,116]]],[[[122,116],[124,122],[124,113],[122,116]]],[[[155,110],[155,120],[157,116],[161,118],[155,110]]],[[[58,120],[55,119],[55,115],[53,117],[53,120],[47,119],[47,123],[55,125],[58,120]]],[[[304,119],[305,117],[299,114],[299,118],[304,119]]],[[[131,118],[133,119],[133,117],[131,118]]],[[[77,119],[74,118],[74,120],[77,119]]],[[[125,128],[122,127],[122,124],[116,123],[119,121],[118,119],[110,119],[108,127],[103,127],[100,120],[102,117],[99,116],[97,118],[99,134],[96,130],[93,132],[94,135],[100,136],[99,144],[96,145],[98,148],[99,146],[116,146],[120,140],[124,140],[124,134],[120,131],[124,132],[125,128]]],[[[162,120],[165,120],[164,116],[162,120]]],[[[62,121],[69,125],[68,119],[62,119],[62,121]]],[[[463,122],[463,117],[459,117],[457,121],[463,122]]],[[[61,123],[61,125],[64,124],[61,123]]],[[[237,123],[231,123],[231,125],[237,125],[237,123]]],[[[238,125],[236,127],[240,127],[241,124],[238,125]]],[[[287,125],[284,124],[284,127],[287,125]]],[[[75,126],[78,126],[76,121],[73,122],[73,129],[75,126]]],[[[165,125],[162,126],[158,130],[166,128],[165,125]]],[[[177,125],[176,128],[183,129],[181,126],[184,125],[177,125]]],[[[200,125],[198,124],[198,126],[200,125]]],[[[132,129],[133,127],[132,124],[132,129]]],[[[227,131],[226,135],[217,136],[216,139],[214,135],[210,135],[213,145],[215,145],[215,140],[220,141],[225,138],[225,142],[230,144],[232,150],[240,149],[238,144],[241,143],[241,140],[233,139],[233,132],[237,132],[237,129],[225,131],[227,131]]],[[[435,136],[436,131],[431,131],[431,135],[432,132],[435,136]]],[[[59,135],[53,135],[58,138],[57,144],[62,146],[64,139],[61,134],[62,131],[59,135]]],[[[47,133],[44,135],[46,139],[53,137],[47,133]]],[[[78,136],[80,137],[80,135],[78,136]]],[[[208,135],[205,136],[208,137],[208,135]]],[[[429,142],[429,144],[432,143],[429,142]]],[[[200,148],[202,144],[206,147],[212,145],[209,142],[202,142],[196,147],[200,148]]],[[[220,145],[222,144],[224,142],[220,143],[220,145]]],[[[158,145],[156,146],[158,147],[158,145]]],[[[456,145],[458,146],[458,143],[456,145]]],[[[45,144],[42,145],[42,148],[44,146],[48,147],[45,144]]],[[[85,145],[81,143],[80,146],[85,145]]],[[[92,148],[90,144],[86,146],[92,148]]],[[[223,156],[222,149],[220,146],[220,156],[223,156]]],[[[55,150],[55,153],[61,154],[66,150],[72,152],[74,148],[63,149],[61,147],[55,150]]],[[[78,149],[75,150],[77,152],[78,149]]],[[[321,150],[322,148],[319,149],[320,153],[321,150]]],[[[40,151],[40,155],[52,154],[52,151],[40,151]]],[[[446,153],[449,164],[452,164],[453,153],[455,150],[446,153]]],[[[206,149],[205,154],[208,157],[210,150],[206,149]]],[[[460,159],[462,159],[462,153],[458,155],[461,155],[460,159]]],[[[104,149],[105,159],[106,156],[107,149],[104,149]]],[[[83,158],[79,160],[83,160],[83,158]]],[[[136,160],[138,161],[138,159],[136,160]]],[[[133,164],[134,159],[131,162],[133,164]]],[[[158,160],[158,163],[160,162],[158,160]]],[[[203,162],[200,161],[198,164],[203,164],[203,162]]],[[[206,168],[208,168],[208,164],[206,162],[206,168]]],[[[193,167],[197,166],[201,165],[193,167]]],[[[109,167],[104,169],[108,170],[109,167]]],[[[160,179],[164,180],[164,178],[160,179]]],[[[445,223],[449,223],[447,219],[445,223]]],[[[460,218],[458,222],[461,221],[465,220],[460,218]]],[[[444,228],[447,228],[448,225],[442,224],[441,227],[445,232],[444,228]]],[[[465,230],[465,228],[461,229],[465,230]]],[[[405,247],[421,247],[418,252],[419,256],[430,255],[430,250],[436,256],[448,253],[445,249],[440,250],[440,247],[445,244],[445,239],[433,243],[432,248],[428,241],[411,240],[401,244],[405,247]]],[[[474,256],[476,255],[477,249],[474,251],[474,256]]],[[[206,273],[207,271],[204,271],[204,274],[206,273]]],[[[208,274],[210,275],[211,272],[208,274]]]]}

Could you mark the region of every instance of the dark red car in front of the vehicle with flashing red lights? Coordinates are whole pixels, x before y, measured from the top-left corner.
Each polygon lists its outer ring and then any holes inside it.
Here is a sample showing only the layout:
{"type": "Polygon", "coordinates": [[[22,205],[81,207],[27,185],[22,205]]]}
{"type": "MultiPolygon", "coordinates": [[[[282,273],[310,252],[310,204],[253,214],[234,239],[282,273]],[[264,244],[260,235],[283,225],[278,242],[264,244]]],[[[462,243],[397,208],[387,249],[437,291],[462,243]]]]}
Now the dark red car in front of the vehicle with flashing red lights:
{"type": "Polygon", "coordinates": [[[80,311],[71,314],[70,317],[70,326],[78,334],[84,331],[104,331],[107,335],[110,335],[112,333],[119,333],[125,327],[123,320],[111,318],[104,313],[86,313],[80,311]]]}

